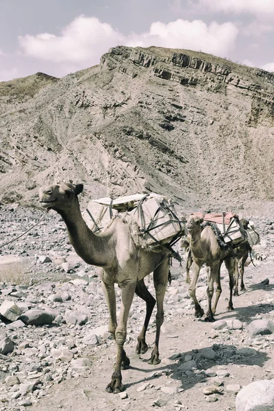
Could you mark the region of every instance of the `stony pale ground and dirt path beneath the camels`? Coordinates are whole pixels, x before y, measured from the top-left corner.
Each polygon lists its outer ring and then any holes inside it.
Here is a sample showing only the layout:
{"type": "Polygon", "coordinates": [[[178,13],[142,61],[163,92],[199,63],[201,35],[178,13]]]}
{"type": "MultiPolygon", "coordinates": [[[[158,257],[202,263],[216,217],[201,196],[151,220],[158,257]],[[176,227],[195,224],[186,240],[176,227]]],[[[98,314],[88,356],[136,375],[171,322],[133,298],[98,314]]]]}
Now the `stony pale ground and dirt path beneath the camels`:
{"type": "MultiPolygon", "coordinates": [[[[50,212],[28,234],[2,246],[41,216],[33,208],[0,208],[0,410],[28,406],[39,411],[227,411],[235,410],[236,394],[243,386],[274,379],[271,219],[255,219],[261,234],[259,259],[245,269],[247,290],[234,297],[233,312],[226,310],[228,275],[222,271],[215,323],[194,318],[184,264],[174,262],[164,303],[162,362],[157,366],[147,364],[155,338],[154,312],[147,333],[149,351],[135,353],[145,305],[134,299],[125,344],[131,359],[123,371],[126,389],[112,395],[104,389],[116,349],[107,332],[108,310],[98,271],[75,255],[60,217],[50,212]],[[262,325],[268,334],[260,334],[262,325]]],[[[147,286],[153,292],[149,279],[147,286]]],[[[119,288],[116,295],[119,303],[119,288]]],[[[206,308],[204,269],[197,295],[206,308]]]]}

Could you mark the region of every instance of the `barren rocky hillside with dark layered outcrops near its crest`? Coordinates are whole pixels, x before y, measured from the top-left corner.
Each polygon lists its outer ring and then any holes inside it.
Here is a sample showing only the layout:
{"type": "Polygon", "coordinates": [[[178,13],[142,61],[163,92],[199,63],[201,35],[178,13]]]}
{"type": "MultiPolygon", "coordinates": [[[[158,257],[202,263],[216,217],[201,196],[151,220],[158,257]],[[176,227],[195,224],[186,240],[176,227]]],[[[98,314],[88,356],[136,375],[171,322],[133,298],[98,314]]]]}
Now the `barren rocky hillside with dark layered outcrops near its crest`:
{"type": "Polygon", "coordinates": [[[274,199],[274,75],[193,51],[116,47],[98,66],[0,83],[0,199],[84,182],[184,208],[274,199]]]}

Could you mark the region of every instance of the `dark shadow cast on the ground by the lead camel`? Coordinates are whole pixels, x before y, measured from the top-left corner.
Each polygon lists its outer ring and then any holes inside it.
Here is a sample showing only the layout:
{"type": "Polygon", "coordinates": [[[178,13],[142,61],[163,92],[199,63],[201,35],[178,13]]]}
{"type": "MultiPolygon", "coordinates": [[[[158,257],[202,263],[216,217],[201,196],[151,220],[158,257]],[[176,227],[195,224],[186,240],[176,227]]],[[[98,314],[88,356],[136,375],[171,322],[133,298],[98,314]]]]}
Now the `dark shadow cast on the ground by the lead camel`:
{"type": "MultiPolygon", "coordinates": [[[[229,372],[225,371],[226,365],[256,365],[263,367],[264,363],[269,360],[269,356],[267,356],[266,353],[262,353],[249,347],[238,349],[234,345],[213,344],[211,347],[206,347],[206,349],[211,349],[210,353],[213,353],[214,351],[216,357],[214,360],[205,358],[205,348],[202,348],[193,349],[192,351],[183,353],[175,353],[169,358],[169,360],[175,361],[173,364],[167,364],[155,369],[141,369],[136,366],[130,366],[129,369],[140,371],[145,374],[149,373],[150,375],[125,384],[125,388],[127,389],[136,384],[145,382],[153,382],[153,384],[155,384],[155,380],[162,375],[168,375],[172,379],[177,380],[177,382],[180,382],[179,385],[186,391],[201,382],[210,382],[210,378],[213,376],[212,373],[214,374],[214,366],[221,366],[221,369],[216,370],[216,373],[220,372],[220,370],[221,372],[223,371],[223,375],[221,375],[221,378],[223,378],[225,377],[225,372],[229,375],[229,372]],[[207,370],[210,370],[210,372],[207,373],[207,370]],[[210,374],[211,376],[207,374],[210,374]]],[[[143,361],[147,362],[147,360],[143,361]]],[[[164,386],[164,384],[160,385],[164,386]]]]}

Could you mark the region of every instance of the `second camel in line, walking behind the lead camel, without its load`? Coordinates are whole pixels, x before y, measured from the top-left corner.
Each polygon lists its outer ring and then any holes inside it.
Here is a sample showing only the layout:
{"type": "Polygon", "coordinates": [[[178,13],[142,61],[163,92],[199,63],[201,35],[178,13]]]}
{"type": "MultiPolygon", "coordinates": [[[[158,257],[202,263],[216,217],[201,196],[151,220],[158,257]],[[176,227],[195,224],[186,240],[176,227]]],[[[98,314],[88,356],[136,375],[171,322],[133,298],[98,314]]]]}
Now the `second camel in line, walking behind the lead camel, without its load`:
{"type": "Polygon", "coordinates": [[[234,288],[234,268],[235,259],[232,257],[231,247],[223,243],[221,246],[215,232],[214,225],[208,223],[206,227],[201,230],[201,223],[203,218],[197,215],[191,215],[188,219],[186,227],[190,234],[190,252],[192,256],[192,281],[188,288],[190,297],[195,303],[195,316],[203,316],[203,309],[201,308],[196,297],[196,284],[199,277],[201,266],[206,264],[209,269],[208,273],[208,312],[206,314],[206,321],[214,321],[214,314],[216,306],[219,301],[221,288],[221,264],[225,261],[225,266],[229,273],[229,303],[228,310],[234,310],[232,303],[232,291],[234,288]],[[216,299],[212,308],[212,297],[214,293],[214,282],[216,282],[216,299]]]}

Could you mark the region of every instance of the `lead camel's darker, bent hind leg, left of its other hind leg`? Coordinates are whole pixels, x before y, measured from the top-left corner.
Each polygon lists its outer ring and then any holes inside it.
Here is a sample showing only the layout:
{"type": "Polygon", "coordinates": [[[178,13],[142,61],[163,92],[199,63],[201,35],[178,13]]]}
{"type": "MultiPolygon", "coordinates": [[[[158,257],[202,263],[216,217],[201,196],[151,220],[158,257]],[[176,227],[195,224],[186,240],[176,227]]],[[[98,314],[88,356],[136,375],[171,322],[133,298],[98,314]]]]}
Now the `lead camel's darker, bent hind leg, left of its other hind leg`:
{"type": "Polygon", "coordinates": [[[155,298],[152,297],[147,287],[145,286],[144,279],[140,279],[140,281],[137,283],[135,292],[136,292],[136,295],[138,295],[138,297],[143,299],[147,304],[145,323],[142,327],[142,331],[140,332],[138,336],[138,343],[136,346],[136,353],[144,354],[147,352],[147,348],[148,348],[147,343],[145,341],[145,335],[147,332],[147,327],[149,325],[151,313],[153,311],[156,301],[155,301],[155,298]]]}

